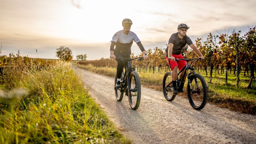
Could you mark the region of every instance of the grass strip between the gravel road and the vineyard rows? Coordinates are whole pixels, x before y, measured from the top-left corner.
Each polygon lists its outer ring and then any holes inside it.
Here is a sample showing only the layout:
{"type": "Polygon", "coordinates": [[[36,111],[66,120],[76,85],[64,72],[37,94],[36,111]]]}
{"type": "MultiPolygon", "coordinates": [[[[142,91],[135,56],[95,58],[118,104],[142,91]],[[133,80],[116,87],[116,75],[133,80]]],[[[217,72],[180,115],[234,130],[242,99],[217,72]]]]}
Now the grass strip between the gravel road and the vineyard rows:
{"type": "MultiPolygon", "coordinates": [[[[77,65],[80,68],[86,70],[103,74],[107,76],[115,76],[116,68],[100,67],[96,68],[92,65],[77,65]],[[107,72],[108,71],[108,72],[107,72]]],[[[196,71],[197,72],[197,71],[196,71]]],[[[141,70],[139,72],[139,77],[141,84],[153,88],[155,90],[162,91],[162,79],[164,76],[163,71],[155,72],[145,72],[141,70]]],[[[242,113],[255,114],[256,113],[256,90],[246,89],[248,85],[248,76],[240,75],[239,88],[236,87],[236,76],[233,74],[228,74],[228,84],[225,84],[224,74],[217,75],[213,73],[212,82],[209,83],[209,72],[206,77],[206,73],[199,71],[199,73],[204,77],[207,87],[208,87],[208,100],[218,104],[221,107],[228,107],[230,109],[240,111],[242,113]]],[[[113,79],[114,81],[114,79],[113,79]]],[[[187,80],[186,82],[187,83],[187,80]]],[[[187,84],[184,85],[184,90],[186,90],[187,84]]],[[[184,92],[184,96],[186,91],[184,92]]]]}

